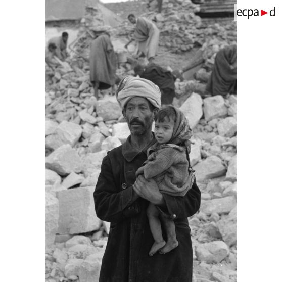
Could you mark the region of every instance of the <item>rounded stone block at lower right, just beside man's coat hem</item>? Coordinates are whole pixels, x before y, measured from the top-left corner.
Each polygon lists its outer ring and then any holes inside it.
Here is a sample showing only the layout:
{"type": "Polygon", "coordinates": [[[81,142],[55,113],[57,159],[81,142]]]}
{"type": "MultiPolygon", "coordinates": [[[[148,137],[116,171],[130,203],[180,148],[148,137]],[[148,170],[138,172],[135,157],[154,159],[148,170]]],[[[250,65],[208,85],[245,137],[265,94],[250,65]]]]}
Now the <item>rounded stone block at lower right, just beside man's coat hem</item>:
{"type": "Polygon", "coordinates": [[[197,260],[218,263],[229,255],[228,246],[222,241],[199,244],[195,248],[197,260]]]}

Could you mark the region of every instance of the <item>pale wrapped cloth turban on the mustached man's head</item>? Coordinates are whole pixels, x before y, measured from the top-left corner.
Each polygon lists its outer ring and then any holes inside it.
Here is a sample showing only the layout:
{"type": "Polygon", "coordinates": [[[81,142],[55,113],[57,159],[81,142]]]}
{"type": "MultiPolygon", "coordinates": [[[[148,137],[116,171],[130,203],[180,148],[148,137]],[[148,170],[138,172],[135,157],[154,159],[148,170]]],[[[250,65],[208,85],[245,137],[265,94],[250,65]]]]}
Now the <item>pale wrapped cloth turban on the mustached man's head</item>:
{"type": "Polygon", "coordinates": [[[159,110],[162,107],[161,91],[155,83],[139,77],[123,77],[116,91],[116,98],[121,106],[121,110],[124,110],[126,103],[136,96],[146,98],[159,110]]]}

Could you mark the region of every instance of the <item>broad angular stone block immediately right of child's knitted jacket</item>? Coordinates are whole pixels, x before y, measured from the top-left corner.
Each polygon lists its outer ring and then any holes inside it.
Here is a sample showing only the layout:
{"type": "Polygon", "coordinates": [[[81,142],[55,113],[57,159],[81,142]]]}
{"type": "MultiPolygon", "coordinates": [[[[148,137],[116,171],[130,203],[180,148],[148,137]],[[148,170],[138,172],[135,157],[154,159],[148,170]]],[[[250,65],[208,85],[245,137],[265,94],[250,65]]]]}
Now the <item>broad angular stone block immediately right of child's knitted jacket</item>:
{"type": "Polygon", "coordinates": [[[226,168],[223,166],[221,159],[217,156],[206,158],[202,162],[196,164],[194,169],[198,181],[222,176],[226,172],[226,168]]]}

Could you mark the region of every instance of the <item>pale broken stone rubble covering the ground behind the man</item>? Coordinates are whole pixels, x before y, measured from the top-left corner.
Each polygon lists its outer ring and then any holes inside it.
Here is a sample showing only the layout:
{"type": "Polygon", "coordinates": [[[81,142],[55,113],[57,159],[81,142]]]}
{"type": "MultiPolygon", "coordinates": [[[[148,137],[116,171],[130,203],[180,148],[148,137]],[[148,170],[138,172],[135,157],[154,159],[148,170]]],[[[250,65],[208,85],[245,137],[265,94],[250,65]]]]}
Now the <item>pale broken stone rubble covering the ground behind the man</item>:
{"type": "MultiPolygon", "coordinates": [[[[162,52],[169,52],[170,58],[177,61],[199,49],[203,54],[202,68],[193,79],[176,80],[177,97],[173,102],[193,128],[191,161],[202,192],[200,211],[189,218],[194,248],[193,279],[234,282],[237,281],[237,96],[205,98],[204,89],[216,52],[236,41],[236,23],[201,25],[201,19],[193,12],[185,13],[188,8],[191,11],[197,6],[190,0],[164,1],[162,14],[149,11],[147,16],[158,19],[162,52]],[[174,42],[178,37],[182,41],[174,42]]],[[[132,27],[124,22],[112,31],[112,36],[126,42],[130,32],[132,27]]],[[[81,44],[78,47],[83,48],[81,44]]],[[[182,60],[182,65],[167,65],[164,58],[165,55],[159,56],[158,60],[173,69],[185,64],[182,60]]],[[[123,64],[117,73],[122,76],[132,70],[130,65],[123,64]]],[[[106,152],[122,144],[129,135],[115,97],[107,91],[102,96],[98,101],[93,97],[87,60],[73,56],[56,71],[46,68],[45,280],[48,282],[98,281],[109,223],[97,218],[92,193],[106,152]]]]}

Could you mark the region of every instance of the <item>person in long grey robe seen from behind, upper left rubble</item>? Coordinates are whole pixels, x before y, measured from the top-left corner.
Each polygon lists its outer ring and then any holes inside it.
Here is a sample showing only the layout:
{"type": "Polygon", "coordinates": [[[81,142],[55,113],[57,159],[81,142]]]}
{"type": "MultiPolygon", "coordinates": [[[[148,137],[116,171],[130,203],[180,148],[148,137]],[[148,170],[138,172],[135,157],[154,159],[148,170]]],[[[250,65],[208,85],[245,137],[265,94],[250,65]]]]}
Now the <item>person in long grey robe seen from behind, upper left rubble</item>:
{"type": "Polygon", "coordinates": [[[109,33],[102,33],[92,40],[89,54],[90,81],[98,99],[98,89],[112,87],[116,82],[116,55],[109,33]]]}

